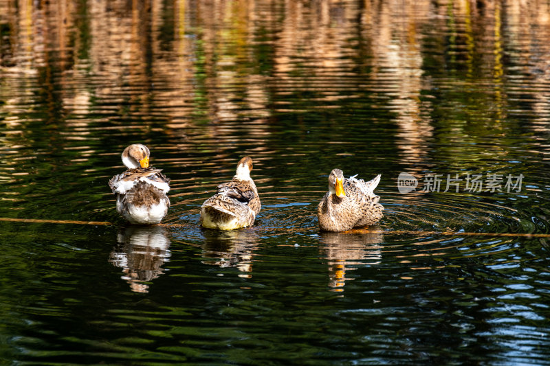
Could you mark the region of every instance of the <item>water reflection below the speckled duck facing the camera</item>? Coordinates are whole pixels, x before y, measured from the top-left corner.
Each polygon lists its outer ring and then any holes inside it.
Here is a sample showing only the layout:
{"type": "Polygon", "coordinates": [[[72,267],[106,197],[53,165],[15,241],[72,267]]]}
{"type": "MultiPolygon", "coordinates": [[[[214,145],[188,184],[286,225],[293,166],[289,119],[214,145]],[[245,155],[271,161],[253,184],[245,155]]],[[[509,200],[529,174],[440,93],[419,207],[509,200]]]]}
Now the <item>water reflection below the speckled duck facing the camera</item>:
{"type": "Polygon", "coordinates": [[[347,271],[356,266],[380,264],[382,251],[380,243],[384,240],[382,231],[368,229],[346,233],[323,231],[319,234],[321,244],[325,244],[325,255],[329,264],[329,286],[336,292],[342,292],[347,280],[347,271]],[[357,231],[357,232],[355,232],[357,231]]]}

